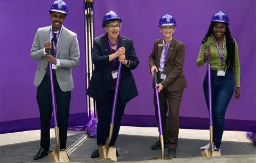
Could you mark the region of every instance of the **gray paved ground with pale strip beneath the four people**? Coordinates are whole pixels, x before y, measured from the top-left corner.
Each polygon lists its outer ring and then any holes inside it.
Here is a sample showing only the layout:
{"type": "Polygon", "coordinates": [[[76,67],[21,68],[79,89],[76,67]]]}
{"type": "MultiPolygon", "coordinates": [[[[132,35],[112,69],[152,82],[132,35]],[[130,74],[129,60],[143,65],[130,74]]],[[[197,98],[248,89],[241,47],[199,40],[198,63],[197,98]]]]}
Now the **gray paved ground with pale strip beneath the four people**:
{"type": "MultiPolygon", "coordinates": [[[[151,150],[150,145],[157,140],[158,130],[155,127],[122,126],[116,143],[120,156],[117,161],[158,161],[154,156],[161,158],[160,150],[151,150]]],[[[51,150],[54,149],[54,130],[51,130],[51,150]]],[[[220,158],[202,158],[199,148],[209,142],[209,131],[180,130],[177,159],[171,162],[252,162],[256,160],[256,147],[251,139],[247,139],[245,132],[225,131],[220,158]]],[[[39,149],[40,132],[27,131],[0,135],[1,162],[50,162],[49,157],[33,160],[39,149]]],[[[90,138],[86,131],[69,131],[67,151],[72,162],[103,161],[92,159],[91,153],[97,149],[96,139],[90,138]]],[[[167,150],[165,150],[167,153],[167,150]]],[[[165,155],[166,157],[166,155],[165,155]]],[[[164,160],[166,161],[166,160],[164,160]]],[[[105,160],[104,162],[111,162],[105,160]]],[[[230,163],[231,163],[230,162],[230,163]]],[[[256,162],[256,161],[254,161],[256,162]]]]}

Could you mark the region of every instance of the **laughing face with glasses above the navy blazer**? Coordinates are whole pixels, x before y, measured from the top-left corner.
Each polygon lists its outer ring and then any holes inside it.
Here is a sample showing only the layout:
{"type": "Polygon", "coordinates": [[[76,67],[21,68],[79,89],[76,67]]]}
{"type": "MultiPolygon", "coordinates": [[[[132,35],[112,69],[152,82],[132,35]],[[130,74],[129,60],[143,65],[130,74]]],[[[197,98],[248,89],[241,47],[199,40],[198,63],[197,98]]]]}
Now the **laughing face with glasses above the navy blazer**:
{"type": "Polygon", "coordinates": [[[118,20],[115,21],[109,21],[106,25],[105,25],[105,30],[108,33],[108,36],[110,38],[117,38],[119,35],[119,31],[121,28],[121,22],[118,20]]]}

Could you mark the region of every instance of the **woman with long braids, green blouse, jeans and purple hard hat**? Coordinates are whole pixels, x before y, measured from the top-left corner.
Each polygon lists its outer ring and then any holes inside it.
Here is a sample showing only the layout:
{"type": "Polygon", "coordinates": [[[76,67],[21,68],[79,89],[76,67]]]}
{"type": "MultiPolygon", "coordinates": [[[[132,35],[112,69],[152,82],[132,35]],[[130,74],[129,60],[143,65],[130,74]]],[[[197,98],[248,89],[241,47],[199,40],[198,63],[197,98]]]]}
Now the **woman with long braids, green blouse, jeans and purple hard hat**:
{"type": "MultiPolygon", "coordinates": [[[[238,46],[229,30],[228,15],[219,12],[213,15],[210,27],[202,40],[201,49],[196,60],[198,67],[203,66],[207,56],[211,56],[211,88],[213,115],[212,150],[220,152],[222,134],[225,126],[225,114],[234,90],[235,100],[240,96],[240,63],[238,46]],[[206,49],[209,45],[210,49],[206,49]]],[[[203,81],[205,101],[209,110],[208,73],[203,81]]],[[[201,147],[207,150],[210,143],[201,147]]]]}

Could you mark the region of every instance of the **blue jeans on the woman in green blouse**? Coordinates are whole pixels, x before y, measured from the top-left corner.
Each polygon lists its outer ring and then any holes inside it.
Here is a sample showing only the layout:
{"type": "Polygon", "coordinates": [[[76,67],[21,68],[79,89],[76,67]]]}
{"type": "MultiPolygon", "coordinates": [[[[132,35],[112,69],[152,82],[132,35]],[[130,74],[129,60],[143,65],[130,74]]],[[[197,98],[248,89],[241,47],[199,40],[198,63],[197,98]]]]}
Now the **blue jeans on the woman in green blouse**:
{"type": "MultiPolygon", "coordinates": [[[[225,114],[235,90],[234,73],[226,71],[225,76],[217,76],[218,71],[211,70],[213,143],[220,148],[225,125],[225,114]]],[[[209,110],[208,73],[204,82],[204,97],[209,110]]]]}

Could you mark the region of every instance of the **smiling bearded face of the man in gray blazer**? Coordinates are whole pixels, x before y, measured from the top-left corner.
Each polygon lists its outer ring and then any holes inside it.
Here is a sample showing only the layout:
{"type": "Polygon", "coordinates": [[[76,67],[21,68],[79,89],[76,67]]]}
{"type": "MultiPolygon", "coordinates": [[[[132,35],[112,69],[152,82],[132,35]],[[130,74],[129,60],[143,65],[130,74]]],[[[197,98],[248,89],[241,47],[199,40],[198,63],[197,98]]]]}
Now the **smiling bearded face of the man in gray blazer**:
{"type": "Polygon", "coordinates": [[[66,15],[60,12],[50,13],[50,18],[52,21],[52,28],[54,31],[60,30],[63,22],[65,21],[66,15]]]}

